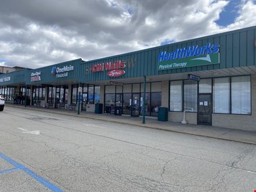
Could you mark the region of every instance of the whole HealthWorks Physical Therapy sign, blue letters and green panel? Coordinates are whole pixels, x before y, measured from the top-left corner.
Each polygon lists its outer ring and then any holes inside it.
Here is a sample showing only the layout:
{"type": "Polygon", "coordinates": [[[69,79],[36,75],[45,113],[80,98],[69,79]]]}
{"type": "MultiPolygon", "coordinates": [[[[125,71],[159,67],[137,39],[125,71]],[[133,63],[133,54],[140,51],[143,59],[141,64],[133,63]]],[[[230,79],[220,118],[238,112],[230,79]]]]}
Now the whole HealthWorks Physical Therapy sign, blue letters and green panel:
{"type": "Polygon", "coordinates": [[[160,52],[158,56],[158,70],[187,68],[220,63],[220,45],[207,43],[204,46],[191,45],[187,48],[176,49],[170,53],[160,52]]]}

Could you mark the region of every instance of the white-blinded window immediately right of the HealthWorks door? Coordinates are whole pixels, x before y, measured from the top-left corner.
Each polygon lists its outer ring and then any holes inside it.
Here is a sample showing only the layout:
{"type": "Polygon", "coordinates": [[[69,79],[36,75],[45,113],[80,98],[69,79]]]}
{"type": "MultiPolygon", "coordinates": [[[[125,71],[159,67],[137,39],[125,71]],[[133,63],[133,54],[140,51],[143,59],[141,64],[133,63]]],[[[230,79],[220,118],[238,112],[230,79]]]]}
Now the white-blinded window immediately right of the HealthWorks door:
{"type": "Polygon", "coordinates": [[[229,113],[230,89],[229,77],[213,79],[213,112],[229,113]]]}

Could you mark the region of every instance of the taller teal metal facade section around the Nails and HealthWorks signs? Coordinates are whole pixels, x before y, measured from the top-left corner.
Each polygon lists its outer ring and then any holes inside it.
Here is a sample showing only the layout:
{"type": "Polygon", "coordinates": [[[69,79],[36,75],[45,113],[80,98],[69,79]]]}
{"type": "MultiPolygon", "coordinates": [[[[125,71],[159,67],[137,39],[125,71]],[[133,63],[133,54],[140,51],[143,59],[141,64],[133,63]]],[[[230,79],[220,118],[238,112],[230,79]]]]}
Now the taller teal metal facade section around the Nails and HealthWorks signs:
{"type": "Polygon", "coordinates": [[[241,30],[229,31],[222,34],[200,37],[197,39],[181,41],[155,48],[126,53],[113,57],[106,57],[93,61],[84,62],[81,69],[81,81],[102,81],[120,78],[157,76],[162,74],[195,72],[200,70],[236,68],[242,66],[256,65],[256,49],[254,40],[256,37],[256,26],[243,28],[241,30]],[[158,70],[158,57],[162,51],[171,52],[176,48],[188,47],[190,45],[203,46],[207,43],[220,44],[220,64],[192,66],[188,68],[158,70]],[[90,67],[103,62],[114,62],[116,60],[126,61],[126,73],[122,77],[108,77],[106,72],[93,73],[90,67]]]}

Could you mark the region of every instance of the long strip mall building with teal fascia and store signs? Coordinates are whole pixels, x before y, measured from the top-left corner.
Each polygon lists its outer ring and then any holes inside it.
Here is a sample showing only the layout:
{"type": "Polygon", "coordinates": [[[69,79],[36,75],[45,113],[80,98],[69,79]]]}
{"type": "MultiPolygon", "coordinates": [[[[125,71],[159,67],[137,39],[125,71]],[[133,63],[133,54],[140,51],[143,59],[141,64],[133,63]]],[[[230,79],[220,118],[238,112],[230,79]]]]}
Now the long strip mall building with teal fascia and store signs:
{"type": "Polygon", "coordinates": [[[22,95],[27,105],[57,108],[78,103],[82,87],[82,111],[103,103],[104,112],[139,116],[145,79],[147,116],[157,116],[162,106],[168,107],[171,122],[181,122],[185,111],[191,124],[256,131],[255,39],[256,26],[103,59],[23,69],[0,75],[0,93],[7,102],[22,95]]]}

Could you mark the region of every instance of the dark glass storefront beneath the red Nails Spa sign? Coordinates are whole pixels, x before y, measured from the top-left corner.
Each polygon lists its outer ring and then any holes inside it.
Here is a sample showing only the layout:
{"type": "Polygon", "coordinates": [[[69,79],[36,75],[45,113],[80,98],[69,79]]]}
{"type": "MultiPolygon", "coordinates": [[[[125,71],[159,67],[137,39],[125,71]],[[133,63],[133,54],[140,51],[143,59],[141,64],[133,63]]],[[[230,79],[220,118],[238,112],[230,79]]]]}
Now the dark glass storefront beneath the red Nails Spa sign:
{"type": "MultiPolygon", "coordinates": [[[[158,116],[162,93],[160,82],[146,83],[146,116],[158,116]]],[[[105,85],[104,112],[115,115],[143,115],[143,83],[105,85]]]]}

